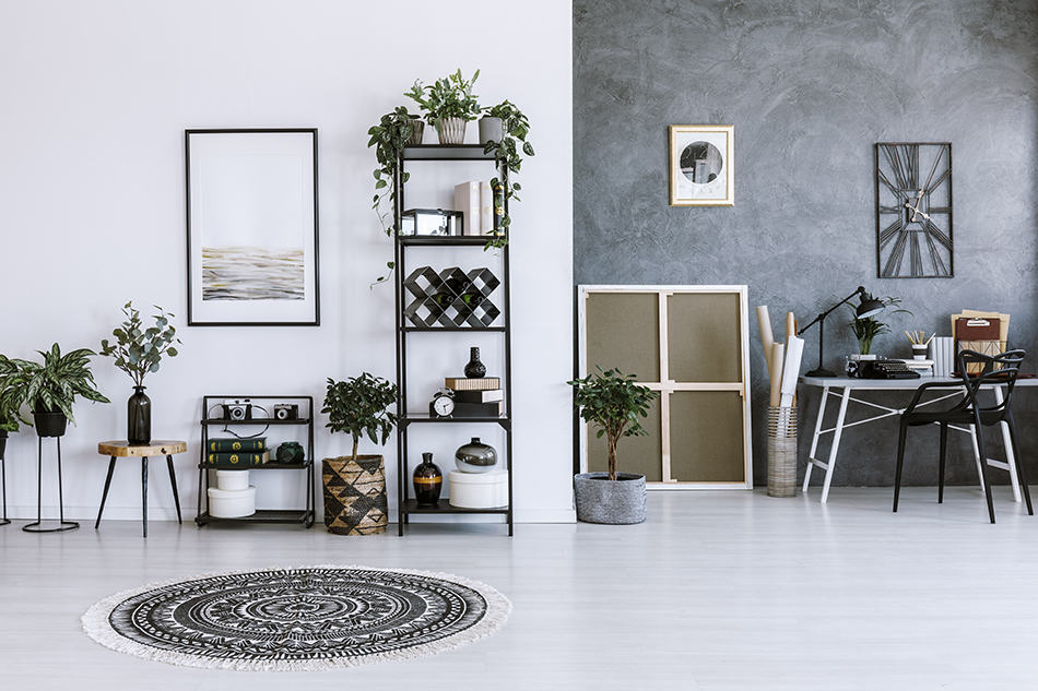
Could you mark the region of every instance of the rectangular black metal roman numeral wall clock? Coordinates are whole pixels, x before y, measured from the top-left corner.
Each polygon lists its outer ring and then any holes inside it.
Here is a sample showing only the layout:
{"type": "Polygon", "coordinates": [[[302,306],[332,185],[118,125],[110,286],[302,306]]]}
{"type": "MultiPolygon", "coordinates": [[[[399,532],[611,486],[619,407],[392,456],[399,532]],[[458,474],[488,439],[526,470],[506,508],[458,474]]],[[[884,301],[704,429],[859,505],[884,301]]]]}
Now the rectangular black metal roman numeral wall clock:
{"type": "Polygon", "coordinates": [[[952,277],[952,144],[876,144],[881,278],[952,277]]]}

